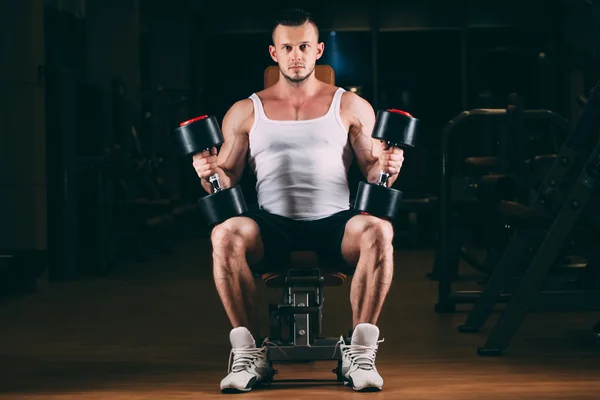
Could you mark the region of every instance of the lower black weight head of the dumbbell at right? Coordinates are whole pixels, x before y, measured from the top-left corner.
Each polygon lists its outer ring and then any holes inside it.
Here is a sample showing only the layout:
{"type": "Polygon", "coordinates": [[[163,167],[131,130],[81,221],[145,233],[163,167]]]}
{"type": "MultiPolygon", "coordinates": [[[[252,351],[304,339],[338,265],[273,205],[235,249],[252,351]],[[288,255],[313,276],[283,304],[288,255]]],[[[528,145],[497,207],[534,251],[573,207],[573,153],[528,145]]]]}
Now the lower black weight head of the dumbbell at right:
{"type": "Polygon", "coordinates": [[[354,209],[380,218],[394,219],[398,215],[402,192],[385,186],[359,182],[354,209]]]}

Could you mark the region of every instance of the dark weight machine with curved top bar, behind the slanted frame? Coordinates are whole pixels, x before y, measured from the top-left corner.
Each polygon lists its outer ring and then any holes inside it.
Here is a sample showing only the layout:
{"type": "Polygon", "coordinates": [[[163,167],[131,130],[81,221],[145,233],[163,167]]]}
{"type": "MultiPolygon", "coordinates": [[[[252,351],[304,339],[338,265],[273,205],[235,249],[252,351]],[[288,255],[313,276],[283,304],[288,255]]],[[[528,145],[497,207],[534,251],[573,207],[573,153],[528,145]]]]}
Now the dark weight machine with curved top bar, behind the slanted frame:
{"type": "MultiPolygon", "coordinates": [[[[430,275],[438,281],[436,312],[453,312],[456,304],[473,303],[479,297],[480,291],[453,291],[452,288],[461,258],[481,270],[457,242],[457,204],[462,203],[471,211],[485,207],[489,213],[496,213],[496,207],[502,201],[528,201],[531,190],[531,166],[528,160],[534,157],[525,151],[530,146],[524,132],[526,124],[534,123],[553,127],[557,132],[556,141],[566,136],[567,122],[563,117],[549,110],[526,110],[516,95],[509,98],[506,109],[472,109],[460,113],[446,124],[442,132],[440,244],[430,275]],[[477,171],[476,177],[457,176],[455,157],[451,157],[451,146],[456,143],[459,134],[466,132],[468,123],[502,126],[505,131],[498,139],[497,157],[471,157],[465,160],[464,163],[471,170],[477,171]]],[[[491,271],[494,260],[488,260],[488,264],[491,265],[486,268],[491,271]]]]}

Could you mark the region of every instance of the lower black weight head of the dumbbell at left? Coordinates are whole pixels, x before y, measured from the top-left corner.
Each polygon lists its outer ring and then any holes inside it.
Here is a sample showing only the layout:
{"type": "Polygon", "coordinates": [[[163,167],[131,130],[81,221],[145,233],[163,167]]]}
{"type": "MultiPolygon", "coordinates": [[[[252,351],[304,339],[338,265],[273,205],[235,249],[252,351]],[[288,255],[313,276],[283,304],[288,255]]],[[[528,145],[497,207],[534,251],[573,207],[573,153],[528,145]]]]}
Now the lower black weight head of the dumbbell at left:
{"type": "Polygon", "coordinates": [[[198,200],[202,216],[210,226],[248,211],[244,194],[239,186],[223,189],[198,200]]]}

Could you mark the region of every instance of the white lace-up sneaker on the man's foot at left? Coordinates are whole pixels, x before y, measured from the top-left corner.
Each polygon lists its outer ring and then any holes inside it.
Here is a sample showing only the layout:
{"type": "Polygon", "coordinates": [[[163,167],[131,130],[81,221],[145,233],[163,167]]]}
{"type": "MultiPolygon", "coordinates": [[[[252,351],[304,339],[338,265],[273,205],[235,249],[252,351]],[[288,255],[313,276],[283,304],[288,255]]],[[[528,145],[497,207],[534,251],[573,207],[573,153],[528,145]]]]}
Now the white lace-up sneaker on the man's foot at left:
{"type": "Polygon", "coordinates": [[[256,384],[272,380],[273,368],[267,360],[265,343],[257,348],[254,337],[244,327],[232,329],[229,340],[232,349],[229,354],[228,375],[221,381],[222,392],[248,392],[256,384]]]}

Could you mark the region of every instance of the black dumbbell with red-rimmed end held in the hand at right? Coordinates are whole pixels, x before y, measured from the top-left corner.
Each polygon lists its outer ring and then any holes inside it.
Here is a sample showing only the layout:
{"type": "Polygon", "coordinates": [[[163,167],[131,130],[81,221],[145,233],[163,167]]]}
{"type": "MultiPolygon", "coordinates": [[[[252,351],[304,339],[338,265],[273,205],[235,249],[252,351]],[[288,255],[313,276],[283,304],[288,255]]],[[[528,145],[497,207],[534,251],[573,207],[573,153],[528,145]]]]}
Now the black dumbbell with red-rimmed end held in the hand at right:
{"type": "MultiPolygon", "coordinates": [[[[388,148],[413,148],[418,125],[419,120],[405,111],[379,110],[371,137],[385,142],[388,148]]],[[[387,187],[389,177],[389,173],[381,171],[376,184],[359,182],[354,209],[380,218],[396,218],[402,192],[387,187]]]]}

